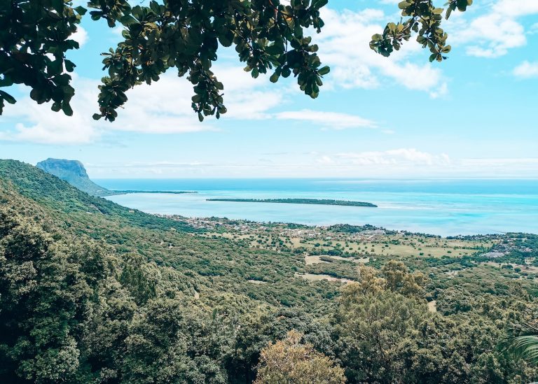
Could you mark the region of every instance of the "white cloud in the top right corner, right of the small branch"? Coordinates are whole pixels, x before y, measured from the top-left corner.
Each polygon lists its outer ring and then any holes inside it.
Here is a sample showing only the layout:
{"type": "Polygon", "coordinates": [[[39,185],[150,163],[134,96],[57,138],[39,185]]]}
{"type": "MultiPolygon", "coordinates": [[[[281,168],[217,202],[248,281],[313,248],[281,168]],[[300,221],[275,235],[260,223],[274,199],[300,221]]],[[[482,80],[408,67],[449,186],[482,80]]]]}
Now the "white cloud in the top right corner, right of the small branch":
{"type": "MultiPolygon", "coordinates": [[[[472,14],[473,9],[469,8],[467,14],[472,14]]],[[[483,8],[479,11],[482,13],[483,8]]],[[[517,19],[537,13],[536,0],[497,0],[488,4],[485,14],[470,21],[467,14],[453,13],[446,29],[451,43],[468,44],[468,55],[499,57],[527,43],[525,28],[517,19]]]]}

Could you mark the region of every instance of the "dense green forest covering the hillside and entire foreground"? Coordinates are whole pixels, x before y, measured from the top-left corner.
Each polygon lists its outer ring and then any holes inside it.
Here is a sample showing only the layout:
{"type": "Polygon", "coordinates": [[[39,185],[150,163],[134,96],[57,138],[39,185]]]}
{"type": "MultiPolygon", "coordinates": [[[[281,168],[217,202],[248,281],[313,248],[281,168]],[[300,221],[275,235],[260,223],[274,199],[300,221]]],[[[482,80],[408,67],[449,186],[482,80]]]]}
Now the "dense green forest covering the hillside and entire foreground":
{"type": "Polygon", "coordinates": [[[511,325],[537,318],[535,279],[453,255],[377,257],[353,283],[308,281],[301,253],[204,232],[1,160],[0,382],[538,378],[502,348],[511,325]]]}

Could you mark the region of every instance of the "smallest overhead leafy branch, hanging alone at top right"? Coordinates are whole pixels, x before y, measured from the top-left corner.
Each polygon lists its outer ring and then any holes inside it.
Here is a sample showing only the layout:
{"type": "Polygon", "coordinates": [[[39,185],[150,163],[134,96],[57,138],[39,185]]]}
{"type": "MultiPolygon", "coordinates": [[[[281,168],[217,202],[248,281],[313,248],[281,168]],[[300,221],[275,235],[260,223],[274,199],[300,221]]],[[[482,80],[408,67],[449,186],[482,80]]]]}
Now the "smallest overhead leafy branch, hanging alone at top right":
{"type": "MultiPolygon", "coordinates": [[[[445,18],[448,20],[453,10],[464,12],[473,0],[449,0],[445,6],[445,18]]],[[[402,20],[395,24],[389,22],[382,34],[372,36],[370,48],[380,55],[388,57],[394,50],[399,50],[403,41],[409,41],[413,32],[417,33],[417,41],[422,48],[428,48],[431,55],[429,61],[442,62],[450,52],[450,45],[446,45],[448,35],[441,28],[443,8],[436,8],[432,0],[403,0],[398,4],[401,9],[402,20]],[[408,17],[403,21],[403,17],[408,17]]]]}

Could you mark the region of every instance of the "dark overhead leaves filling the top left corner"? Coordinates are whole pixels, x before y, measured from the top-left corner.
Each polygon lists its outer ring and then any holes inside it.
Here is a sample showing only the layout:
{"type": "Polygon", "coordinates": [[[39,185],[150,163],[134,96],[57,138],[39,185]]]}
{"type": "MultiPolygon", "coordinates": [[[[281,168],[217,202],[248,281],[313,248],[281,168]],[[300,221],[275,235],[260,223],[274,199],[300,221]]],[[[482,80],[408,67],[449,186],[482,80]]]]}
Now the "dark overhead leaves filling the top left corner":
{"type": "MultiPolygon", "coordinates": [[[[75,90],[70,72],[75,64],[65,58],[78,43],[70,37],[85,13],[63,0],[0,2],[0,87],[25,84],[30,97],[42,104],[53,101],[53,111],[72,115],[69,105],[75,90]]],[[[0,115],[4,101],[15,99],[0,90],[0,115]]]]}

